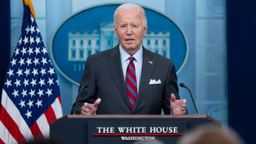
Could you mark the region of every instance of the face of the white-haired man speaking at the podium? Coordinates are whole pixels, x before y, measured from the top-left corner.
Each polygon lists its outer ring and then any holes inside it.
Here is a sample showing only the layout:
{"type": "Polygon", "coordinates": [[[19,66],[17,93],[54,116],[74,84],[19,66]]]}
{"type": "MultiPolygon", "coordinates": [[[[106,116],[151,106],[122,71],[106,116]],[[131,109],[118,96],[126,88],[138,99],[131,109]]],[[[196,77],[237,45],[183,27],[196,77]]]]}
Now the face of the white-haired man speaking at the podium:
{"type": "Polygon", "coordinates": [[[140,49],[142,38],[147,34],[139,9],[119,10],[114,29],[121,46],[130,55],[140,49]]]}

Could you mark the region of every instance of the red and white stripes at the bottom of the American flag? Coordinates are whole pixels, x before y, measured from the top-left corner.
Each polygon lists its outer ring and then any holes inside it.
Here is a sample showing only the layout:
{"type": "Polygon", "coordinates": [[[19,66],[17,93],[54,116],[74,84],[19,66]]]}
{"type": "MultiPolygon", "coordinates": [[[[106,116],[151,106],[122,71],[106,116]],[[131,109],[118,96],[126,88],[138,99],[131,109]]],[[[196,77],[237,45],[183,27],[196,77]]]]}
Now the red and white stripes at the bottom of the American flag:
{"type": "Polygon", "coordinates": [[[48,138],[50,122],[62,117],[60,95],[36,122],[29,127],[20,111],[3,90],[0,117],[0,144],[21,143],[34,138],[48,138]]]}

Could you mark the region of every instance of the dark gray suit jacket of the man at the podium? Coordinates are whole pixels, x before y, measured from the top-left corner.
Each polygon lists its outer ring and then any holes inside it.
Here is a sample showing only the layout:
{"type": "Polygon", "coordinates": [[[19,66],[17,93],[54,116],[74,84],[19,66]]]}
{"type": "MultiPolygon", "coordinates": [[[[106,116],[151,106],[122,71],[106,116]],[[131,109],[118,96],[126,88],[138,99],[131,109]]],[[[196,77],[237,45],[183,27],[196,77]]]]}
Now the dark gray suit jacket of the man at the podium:
{"type": "Polygon", "coordinates": [[[93,54],[87,58],[79,91],[71,114],[81,114],[84,102],[94,103],[101,98],[97,114],[171,114],[171,93],[178,95],[177,76],[173,62],[143,49],[143,63],[138,99],[132,110],[125,90],[119,45],[114,49],[93,54]],[[150,79],[161,80],[161,84],[149,84],[150,79]]]}

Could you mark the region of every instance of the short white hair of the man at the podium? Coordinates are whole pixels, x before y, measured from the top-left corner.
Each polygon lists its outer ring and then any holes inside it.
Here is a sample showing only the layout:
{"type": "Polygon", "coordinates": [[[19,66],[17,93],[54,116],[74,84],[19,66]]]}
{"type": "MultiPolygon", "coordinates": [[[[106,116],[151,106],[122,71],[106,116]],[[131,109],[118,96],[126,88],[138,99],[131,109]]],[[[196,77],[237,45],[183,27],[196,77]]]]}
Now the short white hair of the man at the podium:
{"type": "Polygon", "coordinates": [[[122,4],[122,5],[117,7],[117,9],[116,9],[116,11],[114,13],[114,25],[116,25],[117,12],[119,10],[130,10],[130,9],[139,9],[139,10],[141,10],[141,13],[142,13],[142,23],[143,23],[143,26],[146,26],[147,18],[146,18],[146,13],[145,13],[144,9],[141,6],[139,6],[137,4],[132,4],[132,3],[122,4]]]}

